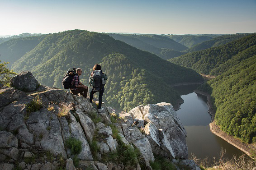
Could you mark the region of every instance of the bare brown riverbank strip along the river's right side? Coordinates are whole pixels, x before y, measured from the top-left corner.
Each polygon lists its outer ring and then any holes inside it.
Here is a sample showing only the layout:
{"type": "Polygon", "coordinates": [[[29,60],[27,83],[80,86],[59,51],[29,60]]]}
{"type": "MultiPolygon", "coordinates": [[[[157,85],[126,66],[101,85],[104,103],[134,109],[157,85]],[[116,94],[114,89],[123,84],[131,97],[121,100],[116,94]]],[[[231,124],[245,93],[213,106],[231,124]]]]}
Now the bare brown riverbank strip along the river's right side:
{"type": "Polygon", "coordinates": [[[207,96],[207,104],[209,106],[208,113],[212,116],[212,121],[209,124],[210,130],[213,134],[217,135],[218,137],[222,138],[223,140],[227,141],[228,143],[232,144],[234,147],[237,147],[242,152],[246,153],[248,156],[250,156],[253,159],[256,159],[256,145],[255,144],[247,144],[243,143],[240,139],[235,138],[233,136],[228,135],[228,133],[225,133],[222,131],[217,124],[215,124],[215,111],[213,110],[213,103],[210,99],[210,95],[205,92],[201,92],[199,90],[194,90],[195,93],[207,96]]]}

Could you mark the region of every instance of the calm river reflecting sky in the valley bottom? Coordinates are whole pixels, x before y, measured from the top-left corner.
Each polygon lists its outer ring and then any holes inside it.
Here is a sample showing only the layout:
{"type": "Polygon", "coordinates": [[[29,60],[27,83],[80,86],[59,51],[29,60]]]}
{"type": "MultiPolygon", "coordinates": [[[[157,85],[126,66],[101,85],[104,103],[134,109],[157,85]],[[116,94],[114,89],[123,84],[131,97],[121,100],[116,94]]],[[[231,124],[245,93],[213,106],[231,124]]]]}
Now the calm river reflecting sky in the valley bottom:
{"type": "Polygon", "coordinates": [[[211,116],[208,113],[207,98],[193,92],[198,86],[174,87],[175,90],[180,92],[181,98],[184,100],[176,113],[187,131],[186,143],[189,158],[191,158],[191,154],[199,159],[208,157],[212,164],[214,158],[218,161],[222,148],[226,151],[224,157],[228,159],[232,159],[233,155],[242,155],[242,151],[211,133],[209,128],[211,116]]]}

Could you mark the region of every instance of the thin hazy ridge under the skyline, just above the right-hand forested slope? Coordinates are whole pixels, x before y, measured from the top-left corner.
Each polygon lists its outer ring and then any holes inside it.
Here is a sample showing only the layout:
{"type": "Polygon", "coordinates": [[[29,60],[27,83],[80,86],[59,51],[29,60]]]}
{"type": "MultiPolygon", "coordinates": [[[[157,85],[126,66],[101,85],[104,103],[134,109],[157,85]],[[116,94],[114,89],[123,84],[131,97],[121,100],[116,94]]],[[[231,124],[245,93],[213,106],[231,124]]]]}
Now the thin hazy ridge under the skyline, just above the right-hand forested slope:
{"type": "Polygon", "coordinates": [[[244,33],[244,34],[232,34],[232,35],[218,36],[211,40],[202,41],[201,43],[199,43],[197,45],[191,46],[189,49],[185,50],[184,52],[194,52],[194,51],[205,50],[205,49],[211,48],[211,47],[223,46],[223,45],[227,44],[228,42],[237,40],[242,37],[246,37],[248,35],[249,35],[248,33],[244,33]]]}

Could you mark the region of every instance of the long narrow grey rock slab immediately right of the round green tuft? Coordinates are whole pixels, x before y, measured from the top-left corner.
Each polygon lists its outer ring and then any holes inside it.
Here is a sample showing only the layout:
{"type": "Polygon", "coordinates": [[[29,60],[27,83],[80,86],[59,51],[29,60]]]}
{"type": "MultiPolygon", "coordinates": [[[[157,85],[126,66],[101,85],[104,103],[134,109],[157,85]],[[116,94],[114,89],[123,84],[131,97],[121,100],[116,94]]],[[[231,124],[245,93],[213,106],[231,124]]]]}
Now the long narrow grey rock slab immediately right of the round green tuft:
{"type": "Polygon", "coordinates": [[[90,152],[90,146],[85,138],[85,134],[83,132],[83,129],[81,128],[81,125],[76,122],[76,118],[73,115],[70,115],[71,123],[69,124],[71,129],[71,137],[79,139],[82,142],[82,151],[78,155],[78,158],[80,160],[93,160],[91,152],[90,152]]]}

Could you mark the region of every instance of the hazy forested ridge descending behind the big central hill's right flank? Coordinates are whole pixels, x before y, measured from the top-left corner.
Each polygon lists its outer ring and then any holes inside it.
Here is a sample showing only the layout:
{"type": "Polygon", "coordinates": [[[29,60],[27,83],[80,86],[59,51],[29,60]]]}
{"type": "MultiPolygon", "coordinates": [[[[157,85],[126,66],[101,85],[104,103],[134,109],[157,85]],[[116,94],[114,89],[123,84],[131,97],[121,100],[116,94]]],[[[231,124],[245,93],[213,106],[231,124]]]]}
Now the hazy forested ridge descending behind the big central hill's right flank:
{"type": "Polygon", "coordinates": [[[140,50],[149,51],[162,59],[171,59],[186,52],[187,47],[163,35],[109,34],[116,40],[123,41],[140,50]]]}

